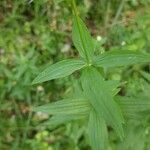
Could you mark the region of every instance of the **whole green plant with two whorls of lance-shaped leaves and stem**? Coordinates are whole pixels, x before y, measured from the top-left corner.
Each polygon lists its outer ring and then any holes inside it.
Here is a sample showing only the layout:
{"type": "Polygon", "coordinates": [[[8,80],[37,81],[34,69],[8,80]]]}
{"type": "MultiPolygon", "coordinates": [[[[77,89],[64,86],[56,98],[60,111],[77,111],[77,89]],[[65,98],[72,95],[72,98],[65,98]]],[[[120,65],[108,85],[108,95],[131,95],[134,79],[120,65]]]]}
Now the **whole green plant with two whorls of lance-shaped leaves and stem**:
{"type": "MultiPolygon", "coordinates": [[[[125,123],[124,117],[126,117],[124,114],[127,114],[130,104],[132,106],[134,104],[134,110],[140,108],[141,101],[130,98],[125,101],[124,97],[116,96],[119,92],[119,83],[105,80],[103,70],[109,67],[148,63],[150,62],[150,55],[128,50],[108,51],[95,55],[95,40],[78,16],[74,0],[71,5],[73,9],[72,38],[80,58],[62,60],[50,65],[34,79],[33,84],[66,77],[79,71],[81,73],[78,79],[80,92],[76,97],[39,106],[34,108],[34,111],[52,115],[50,120],[46,122],[50,126],[57,126],[72,120],[86,119],[92,149],[107,150],[107,127],[111,126],[116,134],[123,139],[123,124],[125,123]]],[[[143,102],[142,107],[145,108],[144,110],[150,109],[150,102],[143,102]]]]}

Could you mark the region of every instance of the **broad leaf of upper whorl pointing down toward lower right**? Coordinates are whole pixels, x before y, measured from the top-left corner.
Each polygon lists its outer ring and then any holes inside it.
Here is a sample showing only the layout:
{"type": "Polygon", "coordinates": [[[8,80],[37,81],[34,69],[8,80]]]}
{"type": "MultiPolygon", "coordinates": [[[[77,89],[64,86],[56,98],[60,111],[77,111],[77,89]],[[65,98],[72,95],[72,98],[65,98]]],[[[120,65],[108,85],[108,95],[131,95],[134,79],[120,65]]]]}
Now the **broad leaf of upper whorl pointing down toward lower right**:
{"type": "Polygon", "coordinates": [[[82,86],[86,98],[99,116],[111,125],[118,135],[123,138],[122,123],[124,122],[121,111],[113,100],[110,87],[105,83],[100,73],[93,67],[83,72],[82,86]],[[107,90],[108,89],[108,90],[107,90]]]}

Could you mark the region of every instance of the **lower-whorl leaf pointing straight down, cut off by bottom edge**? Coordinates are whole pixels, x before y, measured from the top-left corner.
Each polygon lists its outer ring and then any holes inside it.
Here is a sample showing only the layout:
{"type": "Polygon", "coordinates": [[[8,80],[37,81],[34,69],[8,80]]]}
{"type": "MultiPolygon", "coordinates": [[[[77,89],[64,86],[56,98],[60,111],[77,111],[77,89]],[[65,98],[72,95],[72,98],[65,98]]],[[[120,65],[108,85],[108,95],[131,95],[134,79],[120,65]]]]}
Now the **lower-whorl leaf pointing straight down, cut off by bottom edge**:
{"type": "Polygon", "coordinates": [[[107,126],[105,120],[98,116],[94,110],[90,112],[88,134],[93,150],[107,150],[107,126]]]}

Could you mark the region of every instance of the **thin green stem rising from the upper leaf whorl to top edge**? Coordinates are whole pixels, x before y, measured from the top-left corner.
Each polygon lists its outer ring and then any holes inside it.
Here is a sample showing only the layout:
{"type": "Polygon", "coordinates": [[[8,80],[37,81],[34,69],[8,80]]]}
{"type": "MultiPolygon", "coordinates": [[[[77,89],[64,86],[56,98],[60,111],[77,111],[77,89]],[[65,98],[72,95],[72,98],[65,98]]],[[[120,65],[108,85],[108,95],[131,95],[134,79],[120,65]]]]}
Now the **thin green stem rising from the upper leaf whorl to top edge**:
{"type": "Polygon", "coordinates": [[[73,13],[75,15],[75,18],[77,19],[77,26],[78,26],[78,29],[79,29],[79,34],[80,34],[81,42],[82,42],[82,45],[83,45],[83,50],[84,50],[84,53],[85,53],[86,61],[87,61],[88,64],[90,64],[90,60],[88,58],[87,51],[86,51],[86,46],[85,46],[84,40],[83,40],[83,35],[82,35],[82,32],[81,32],[81,26],[80,26],[80,23],[79,23],[79,16],[78,16],[78,11],[77,11],[77,6],[76,6],[76,3],[75,3],[75,0],[72,0],[72,9],[73,9],[73,13]]]}

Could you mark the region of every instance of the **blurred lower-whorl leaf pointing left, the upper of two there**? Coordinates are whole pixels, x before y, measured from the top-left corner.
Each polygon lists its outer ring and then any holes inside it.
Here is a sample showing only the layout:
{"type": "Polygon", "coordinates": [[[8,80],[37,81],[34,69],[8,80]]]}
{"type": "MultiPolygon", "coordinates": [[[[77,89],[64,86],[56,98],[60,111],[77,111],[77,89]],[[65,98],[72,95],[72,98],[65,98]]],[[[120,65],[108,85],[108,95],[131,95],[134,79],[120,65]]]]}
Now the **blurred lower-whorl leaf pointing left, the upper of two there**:
{"type": "Polygon", "coordinates": [[[33,108],[51,115],[88,114],[90,104],[84,99],[64,99],[54,103],[33,108]]]}

